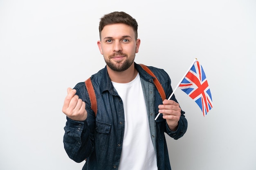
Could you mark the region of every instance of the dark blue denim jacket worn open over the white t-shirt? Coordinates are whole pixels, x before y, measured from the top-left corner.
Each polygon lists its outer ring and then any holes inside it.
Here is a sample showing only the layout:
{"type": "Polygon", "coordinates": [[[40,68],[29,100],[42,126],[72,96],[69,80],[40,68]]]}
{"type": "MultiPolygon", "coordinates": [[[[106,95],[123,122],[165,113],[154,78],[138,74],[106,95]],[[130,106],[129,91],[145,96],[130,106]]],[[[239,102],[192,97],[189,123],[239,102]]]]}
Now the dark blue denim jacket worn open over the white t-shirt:
{"type": "MultiPolygon", "coordinates": [[[[170,96],[173,90],[168,74],[162,69],[148,68],[159,79],[166,97],[170,96]]],[[[184,111],[181,111],[176,131],[171,131],[168,128],[162,114],[157,120],[154,120],[158,114],[158,105],[162,104],[162,99],[153,83],[153,77],[136,63],[135,69],[139,72],[144,92],[151,139],[157,155],[158,170],[171,170],[164,132],[174,139],[179,139],[184,135],[187,129],[184,111]]],[[[117,170],[125,128],[123,103],[111,83],[106,67],[92,75],[91,80],[97,98],[97,116],[95,118],[95,114],[90,108],[91,104],[85,83],[78,83],[74,89],[76,89],[79,98],[85,102],[88,117],[83,122],[67,118],[64,128],[64,148],[67,155],[74,161],[82,162],[86,159],[83,170],[117,170]]],[[[171,100],[177,102],[174,95],[171,100]]]]}

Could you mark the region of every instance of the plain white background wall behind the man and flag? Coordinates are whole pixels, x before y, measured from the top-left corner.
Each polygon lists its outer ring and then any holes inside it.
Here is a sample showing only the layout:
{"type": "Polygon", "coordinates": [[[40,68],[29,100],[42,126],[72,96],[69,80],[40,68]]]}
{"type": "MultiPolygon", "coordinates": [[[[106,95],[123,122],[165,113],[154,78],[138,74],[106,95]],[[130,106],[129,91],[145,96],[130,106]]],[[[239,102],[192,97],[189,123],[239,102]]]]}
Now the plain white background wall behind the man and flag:
{"type": "Polygon", "coordinates": [[[168,137],[173,170],[255,170],[255,0],[0,0],[0,169],[81,170],[63,148],[67,87],[105,66],[99,18],[139,24],[135,62],[163,68],[176,87],[196,57],[213,109],[175,96],[188,130],[168,137]]]}

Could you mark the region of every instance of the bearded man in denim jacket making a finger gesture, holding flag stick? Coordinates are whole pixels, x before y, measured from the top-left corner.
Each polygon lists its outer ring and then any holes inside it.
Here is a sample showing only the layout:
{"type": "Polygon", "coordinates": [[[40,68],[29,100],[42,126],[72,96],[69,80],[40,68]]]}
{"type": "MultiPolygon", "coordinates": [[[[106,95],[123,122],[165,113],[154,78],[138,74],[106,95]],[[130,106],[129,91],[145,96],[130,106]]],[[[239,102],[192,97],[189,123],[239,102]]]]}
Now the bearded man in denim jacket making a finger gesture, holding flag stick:
{"type": "MultiPolygon", "coordinates": [[[[83,170],[171,170],[164,132],[179,139],[187,129],[184,111],[173,96],[162,101],[153,77],[134,62],[139,51],[137,22],[124,12],[104,15],[99,24],[99,50],[106,67],[91,76],[97,116],[85,83],[67,89],[64,147],[83,170]],[[154,120],[157,113],[162,113],[154,120]]],[[[168,74],[149,67],[172,93],[168,74]]]]}

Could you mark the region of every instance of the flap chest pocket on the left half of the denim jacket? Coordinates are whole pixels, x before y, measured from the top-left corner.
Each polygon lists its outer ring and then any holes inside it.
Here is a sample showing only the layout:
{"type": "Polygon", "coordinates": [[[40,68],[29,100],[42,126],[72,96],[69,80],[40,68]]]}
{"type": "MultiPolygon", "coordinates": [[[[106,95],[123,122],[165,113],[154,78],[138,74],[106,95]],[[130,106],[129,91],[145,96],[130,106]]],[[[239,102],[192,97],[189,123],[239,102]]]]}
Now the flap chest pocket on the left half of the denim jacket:
{"type": "Polygon", "coordinates": [[[97,147],[101,148],[101,150],[106,150],[106,146],[108,146],[110,129],[111,124],[96,120],[95,144],[97,147]]]}

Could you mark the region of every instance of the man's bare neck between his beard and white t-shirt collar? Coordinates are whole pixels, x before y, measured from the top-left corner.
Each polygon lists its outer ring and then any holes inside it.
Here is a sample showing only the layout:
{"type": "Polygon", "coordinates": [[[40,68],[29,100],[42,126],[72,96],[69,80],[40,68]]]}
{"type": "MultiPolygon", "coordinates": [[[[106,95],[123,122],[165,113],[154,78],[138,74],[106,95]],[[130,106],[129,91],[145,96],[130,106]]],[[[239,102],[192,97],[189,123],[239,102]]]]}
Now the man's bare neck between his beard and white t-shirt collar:
{"type": "Polygon", "coordinates": [[[111,81],[116,83],[129,83],[132,81],[138,74],[138,71],[134,67],[134,63],[123,72],[116,72],[111,70],[107,65],[108,75],[111,81]]]}

